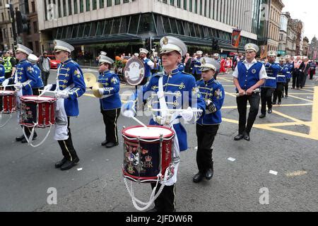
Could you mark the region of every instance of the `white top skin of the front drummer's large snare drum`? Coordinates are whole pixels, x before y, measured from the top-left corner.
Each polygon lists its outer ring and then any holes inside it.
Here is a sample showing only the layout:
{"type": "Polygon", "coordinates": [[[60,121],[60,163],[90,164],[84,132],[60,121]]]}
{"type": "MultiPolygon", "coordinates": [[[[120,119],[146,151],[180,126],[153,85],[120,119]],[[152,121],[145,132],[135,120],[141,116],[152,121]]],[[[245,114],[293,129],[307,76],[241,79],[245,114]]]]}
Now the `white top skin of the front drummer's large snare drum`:
{"type": "Polygon", "coordinates": [[[175,134],[172,129],[169,129],[164,126],[131,126],[122,131],[125,136],[133,138],[145,138],[145,139],[158,139],[160,135],[163,135],[163,138],[169,138],[175,134]]]}

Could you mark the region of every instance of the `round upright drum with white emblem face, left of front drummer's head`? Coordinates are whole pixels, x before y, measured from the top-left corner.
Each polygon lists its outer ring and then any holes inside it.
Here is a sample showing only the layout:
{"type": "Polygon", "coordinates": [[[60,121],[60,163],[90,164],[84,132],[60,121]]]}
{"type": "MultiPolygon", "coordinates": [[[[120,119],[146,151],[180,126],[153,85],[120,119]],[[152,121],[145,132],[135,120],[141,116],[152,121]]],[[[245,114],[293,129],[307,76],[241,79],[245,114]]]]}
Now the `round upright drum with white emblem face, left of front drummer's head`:
{"type": "Polygon", "coordinates": [[[137,57],[131,57],[124,67],[124,76],[129,85],[139,85],[145,76],[143,61],[137,57]]]}

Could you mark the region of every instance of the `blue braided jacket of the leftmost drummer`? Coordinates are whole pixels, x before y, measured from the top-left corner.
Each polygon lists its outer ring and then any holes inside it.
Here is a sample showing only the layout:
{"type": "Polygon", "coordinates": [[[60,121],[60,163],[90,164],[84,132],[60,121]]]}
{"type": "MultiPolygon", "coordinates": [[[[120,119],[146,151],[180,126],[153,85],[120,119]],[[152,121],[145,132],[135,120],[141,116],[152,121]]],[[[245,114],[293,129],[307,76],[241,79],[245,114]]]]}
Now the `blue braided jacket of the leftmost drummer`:
{"type": "Polygon", "coordinates": [[[32,95],[32,88],[35,88],[37,76],[34,73],[33,65],[30,61],[26,59],[20,61],[16,66],[16,73],[14,73],[14,77],[8,78],[9,81],[14,83],[16,76],[18,78],[18,83],[24,83],[22,95],[32,95]]]}

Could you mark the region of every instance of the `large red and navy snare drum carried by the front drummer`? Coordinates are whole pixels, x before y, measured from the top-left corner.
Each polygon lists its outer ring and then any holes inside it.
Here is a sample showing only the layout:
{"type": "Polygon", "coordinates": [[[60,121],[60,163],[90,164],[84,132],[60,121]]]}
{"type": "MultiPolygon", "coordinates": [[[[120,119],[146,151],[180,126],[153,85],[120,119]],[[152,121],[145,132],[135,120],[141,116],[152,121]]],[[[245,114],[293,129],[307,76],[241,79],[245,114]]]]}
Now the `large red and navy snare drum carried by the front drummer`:
{"type": "Polygon", "coordinates": [[[124,177],[134,182],[155,182],[172,165],[175,132],[164,126],[131,126],[124,138],[124,177]]]}

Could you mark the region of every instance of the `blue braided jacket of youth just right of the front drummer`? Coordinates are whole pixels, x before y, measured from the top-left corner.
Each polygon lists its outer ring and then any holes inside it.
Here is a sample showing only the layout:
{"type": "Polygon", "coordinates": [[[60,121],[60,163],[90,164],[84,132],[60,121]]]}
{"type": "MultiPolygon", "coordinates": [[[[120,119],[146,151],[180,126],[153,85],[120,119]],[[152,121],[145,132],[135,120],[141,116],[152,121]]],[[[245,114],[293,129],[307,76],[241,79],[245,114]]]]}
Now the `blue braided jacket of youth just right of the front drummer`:
{"type": "Polygon", "coordinates": [[[225,92],[223,85],[212,78],[210,81],[197,81],[201,96],[205,102],[211,100],[216,107],[216,112],[210,112],[206,109],[206,114],[202,115],[198,121],[199,125],[218,125],[222,122],[222,114],[220,109],[223,106],[225,92]]]}

